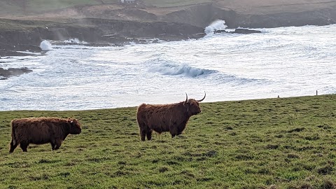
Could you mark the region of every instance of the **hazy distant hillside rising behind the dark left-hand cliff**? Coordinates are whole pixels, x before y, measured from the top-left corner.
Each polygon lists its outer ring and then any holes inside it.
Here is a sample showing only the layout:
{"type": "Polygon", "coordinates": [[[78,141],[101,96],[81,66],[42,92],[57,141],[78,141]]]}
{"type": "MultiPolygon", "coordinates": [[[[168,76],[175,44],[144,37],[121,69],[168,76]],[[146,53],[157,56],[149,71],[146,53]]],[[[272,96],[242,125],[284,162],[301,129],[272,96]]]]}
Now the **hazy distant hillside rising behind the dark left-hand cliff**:
{"type": "Polygon", "coordinates": [[[228,27],[283,27],[336,23],[336,1],[330,0],[3,0],[0,18],[59,20],[99,18],[137,22],[181,22],[207,27],[214,20],[228,27]]]}

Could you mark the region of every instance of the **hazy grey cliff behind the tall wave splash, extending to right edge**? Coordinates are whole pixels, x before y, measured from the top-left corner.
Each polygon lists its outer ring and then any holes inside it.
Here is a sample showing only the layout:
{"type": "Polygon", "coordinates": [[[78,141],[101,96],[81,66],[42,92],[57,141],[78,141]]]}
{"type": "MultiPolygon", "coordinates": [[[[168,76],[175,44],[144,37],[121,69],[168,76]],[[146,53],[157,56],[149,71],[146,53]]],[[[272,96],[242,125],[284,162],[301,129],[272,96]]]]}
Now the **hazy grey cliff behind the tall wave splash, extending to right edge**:
{"type": "Polygon", "coordinates": [[[183,22],[207,27],[214,20],[225,20],[229,28],[249,27],[288,27],[303,25],[331,25],[336,23],[336,6],[313,10],[276,13],[246,14],[239,11],[224,9],[215,3],[206,3],[198,6],[190,6],[182,10],[161,16],[161,20],[169,22],[183,22]]]}

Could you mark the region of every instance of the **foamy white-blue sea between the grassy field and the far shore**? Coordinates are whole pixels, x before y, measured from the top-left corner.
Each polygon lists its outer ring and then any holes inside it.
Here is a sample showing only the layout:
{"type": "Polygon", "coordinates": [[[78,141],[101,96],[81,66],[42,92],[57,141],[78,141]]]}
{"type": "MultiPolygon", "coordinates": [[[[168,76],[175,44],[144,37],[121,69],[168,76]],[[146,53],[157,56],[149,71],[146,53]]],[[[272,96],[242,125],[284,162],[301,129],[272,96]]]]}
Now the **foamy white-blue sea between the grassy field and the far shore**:
{"type": "Polygon", "coordinates": [[[204,92],[203,102],[336,93],[336,25],[213,34],[217,25],[200,39],[109,47],[43,41],[45,53],[1,57],[4,69],[33,71],[0,80],[0,111],[169,104],[204,92]]]}

